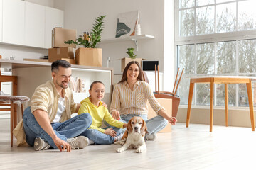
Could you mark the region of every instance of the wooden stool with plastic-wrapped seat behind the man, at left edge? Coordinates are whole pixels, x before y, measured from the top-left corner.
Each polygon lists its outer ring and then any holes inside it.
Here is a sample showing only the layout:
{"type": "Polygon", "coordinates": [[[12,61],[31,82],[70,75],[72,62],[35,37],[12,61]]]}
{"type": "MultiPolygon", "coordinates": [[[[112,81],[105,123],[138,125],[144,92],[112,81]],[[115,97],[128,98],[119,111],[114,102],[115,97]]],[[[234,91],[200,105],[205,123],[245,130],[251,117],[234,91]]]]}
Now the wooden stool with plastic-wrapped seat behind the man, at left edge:
{"type": "MultiPolygon", "coordinates": [[[[13,130],[17,125],[17,111],[15,110],[15,105],[16,106],[21,106],[21,115],[23,115],[23,102],[24,101],[29,101],[30,98],[27,96],[11,96],[11,95],[0,95],[0,102],[1,106],[11,106],[11,108],[8,108],[11,111],[11,147],[13,146],[13,130]]],[[[5,108],[1,108],[5,109],[5,108]]],[[[0,111],[3,111],[1,110],[0,111]]],[[[6,110],[5,110],[6,111],[6,110]]]]}

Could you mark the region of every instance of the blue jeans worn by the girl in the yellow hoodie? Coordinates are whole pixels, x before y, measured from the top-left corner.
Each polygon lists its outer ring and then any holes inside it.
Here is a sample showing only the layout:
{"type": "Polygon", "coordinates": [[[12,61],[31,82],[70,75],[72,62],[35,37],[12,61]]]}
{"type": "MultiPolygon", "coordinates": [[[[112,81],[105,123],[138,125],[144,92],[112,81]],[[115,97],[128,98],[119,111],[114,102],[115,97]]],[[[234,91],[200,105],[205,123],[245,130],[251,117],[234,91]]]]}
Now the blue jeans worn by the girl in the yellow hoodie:
{"type": "MultiPolygon", "coordinates": [[[[116,127],[107,127],[107,128],[112,128],[115,132],[117,132],[117,136],[121,134],[122,130],[116,127]]],[[[104,129],[107,129],[104,128],[104,129]]],[[[111,137],[110,135],[107,135],[105,133],[100,132],[99,130],[96,129],[88,129],[85,130],[85,132],[82,132],[82,136],[88,137],[90,140],[95,142],[95,144],[112,144],[114,143],[114,137],[111,137]]]]}

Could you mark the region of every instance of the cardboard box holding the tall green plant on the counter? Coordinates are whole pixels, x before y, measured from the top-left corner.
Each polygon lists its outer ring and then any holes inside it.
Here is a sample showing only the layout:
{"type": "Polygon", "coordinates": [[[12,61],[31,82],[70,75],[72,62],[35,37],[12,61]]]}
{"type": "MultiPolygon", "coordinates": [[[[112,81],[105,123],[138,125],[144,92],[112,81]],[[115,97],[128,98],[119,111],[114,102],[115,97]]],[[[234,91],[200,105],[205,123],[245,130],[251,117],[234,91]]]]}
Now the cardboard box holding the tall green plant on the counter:
{"type": "Polygon", "coordinates": [[[102,67],[102,48],[78,48],[75,61],[79,65],[102,67]]]}

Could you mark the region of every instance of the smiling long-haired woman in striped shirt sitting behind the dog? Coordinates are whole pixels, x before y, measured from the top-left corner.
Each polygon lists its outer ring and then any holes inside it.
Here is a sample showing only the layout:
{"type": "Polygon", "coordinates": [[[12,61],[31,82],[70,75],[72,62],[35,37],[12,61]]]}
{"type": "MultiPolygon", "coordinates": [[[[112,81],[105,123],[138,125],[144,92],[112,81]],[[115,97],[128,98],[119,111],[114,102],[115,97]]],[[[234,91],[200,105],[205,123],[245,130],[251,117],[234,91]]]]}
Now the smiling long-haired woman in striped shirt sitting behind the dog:
{"type": "Polygon", "coordinates": [[[150,86],[142,81],[142,69],[136,61],[129,62],[124,69],[121,81],[114,86],[110,113],[113,118],[124,123],[134,116],[141,116],[146,121],[147,140],[154,140],[156,132],[162,130],[167,122],[175,125],[176,118],[170,117],[165,109],[156,101],[150,86]],[[147,101],[154,111],[156,117],[147,120],[147,101]]]}

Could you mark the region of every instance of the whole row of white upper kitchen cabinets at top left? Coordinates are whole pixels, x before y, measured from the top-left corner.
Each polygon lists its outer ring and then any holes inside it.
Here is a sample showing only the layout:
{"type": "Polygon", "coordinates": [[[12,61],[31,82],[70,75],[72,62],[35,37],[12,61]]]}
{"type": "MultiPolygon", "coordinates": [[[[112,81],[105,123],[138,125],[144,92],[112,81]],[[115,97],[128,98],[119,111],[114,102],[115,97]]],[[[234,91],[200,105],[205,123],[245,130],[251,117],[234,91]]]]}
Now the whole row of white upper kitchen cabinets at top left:
{"type": "Polygon", "coordinates": [[[50,48],[52,30],[64,25],[64,12],[21,0],[0,0],[0,42],[50,48]]]}

